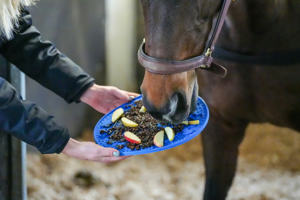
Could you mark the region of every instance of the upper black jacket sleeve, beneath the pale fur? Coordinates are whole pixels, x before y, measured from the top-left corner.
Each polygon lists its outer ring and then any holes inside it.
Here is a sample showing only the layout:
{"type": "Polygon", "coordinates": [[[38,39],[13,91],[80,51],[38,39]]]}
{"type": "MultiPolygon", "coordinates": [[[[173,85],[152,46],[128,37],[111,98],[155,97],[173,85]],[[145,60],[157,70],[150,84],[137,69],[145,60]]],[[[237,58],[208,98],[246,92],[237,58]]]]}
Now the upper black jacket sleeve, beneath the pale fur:
{"type": "Polygon", "coordinates": [[[1,42],[0,54],[68,103],[80,102],[79,98],[94,84],[94,79],[51,42],[41,41],[27,10],[23,10],[19,24],[13,39],[1,42]]]}

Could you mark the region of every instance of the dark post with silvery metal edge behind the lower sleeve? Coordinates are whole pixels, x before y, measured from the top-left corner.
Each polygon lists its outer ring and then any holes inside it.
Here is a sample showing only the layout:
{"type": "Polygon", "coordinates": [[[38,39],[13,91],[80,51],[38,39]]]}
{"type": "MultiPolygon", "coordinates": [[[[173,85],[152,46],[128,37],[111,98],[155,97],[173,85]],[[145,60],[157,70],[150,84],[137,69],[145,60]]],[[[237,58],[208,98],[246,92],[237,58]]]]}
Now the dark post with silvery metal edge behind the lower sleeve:
{"type": "MultiPolygon", "coordinates": [[[[25,75],[0,57],[0,76],[25,99],[25,75]]],[[[27,199],[26,144],[0,130],[0,199],[27,199]]]]}

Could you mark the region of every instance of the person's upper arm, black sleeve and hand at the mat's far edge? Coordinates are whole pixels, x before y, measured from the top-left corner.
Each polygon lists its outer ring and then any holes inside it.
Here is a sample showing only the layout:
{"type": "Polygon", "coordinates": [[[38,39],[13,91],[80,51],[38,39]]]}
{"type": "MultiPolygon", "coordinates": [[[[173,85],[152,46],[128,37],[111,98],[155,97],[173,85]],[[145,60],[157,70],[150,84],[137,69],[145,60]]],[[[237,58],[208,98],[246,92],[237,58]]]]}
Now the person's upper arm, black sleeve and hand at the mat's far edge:
{"type": "Polygon", "coordinates": [[[51,42],[41,41],[41,34],[32,26],[31,15],[25,9],[19,24],[12,40],[0,41],[0,54],[68,103],[78,103],[83,99],[99,112],[107,113],[130,100],[128,95],[138,95],[111,86],[95,87],[95,80],[81,67],[51,42]],[[101,96],[97,96],[100,93],[101,96]]]}

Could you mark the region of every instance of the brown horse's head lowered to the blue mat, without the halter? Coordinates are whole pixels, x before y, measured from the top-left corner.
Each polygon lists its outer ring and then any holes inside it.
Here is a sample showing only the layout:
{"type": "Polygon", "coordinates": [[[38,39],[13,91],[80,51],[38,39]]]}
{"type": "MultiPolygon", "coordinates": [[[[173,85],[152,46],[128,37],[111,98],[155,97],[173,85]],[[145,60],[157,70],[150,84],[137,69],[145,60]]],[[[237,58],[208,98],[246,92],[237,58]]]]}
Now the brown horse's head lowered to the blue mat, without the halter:
{"type": "MultiPolygon", "coordinates": [[[[202,55],[220,10],[221,0],[141,0],[145,22],[145,52],[164,60],[181,61],[202,55]]],[[[145,71],[143,105],[159,120],[178,123],[196,109],[195,70],[173,74],[145,71]]]]}

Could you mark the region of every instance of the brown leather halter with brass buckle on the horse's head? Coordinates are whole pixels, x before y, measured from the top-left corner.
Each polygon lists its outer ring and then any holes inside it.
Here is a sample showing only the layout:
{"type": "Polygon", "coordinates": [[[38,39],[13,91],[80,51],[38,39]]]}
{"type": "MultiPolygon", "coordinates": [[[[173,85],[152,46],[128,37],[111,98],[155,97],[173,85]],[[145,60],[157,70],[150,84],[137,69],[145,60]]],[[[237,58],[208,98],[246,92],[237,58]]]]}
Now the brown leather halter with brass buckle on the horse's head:
{"type": "Polygon", "coordinates": [[[196,68],[201,68],[222,77],[226,76],[226,69],[214,62],[212,62],[211,52],[214,50],[214,44],[219,36],[225,16],[229,7],[231,0],[224,0],[222,8],[220,10],[219,16],[212,32],[211,39],[206,47],[206,53],[204,55],[199,55],[187,60],[182,61],[171,61],[164,60],[160,58],[151,57],[145,52],[145,41],[141,44],[138,51],[138,59],[140,64],[149,72],[156,74],[173,74],[180,73],[188,70],[193,70],[196,68]]]}

